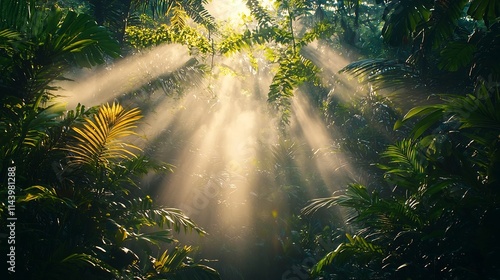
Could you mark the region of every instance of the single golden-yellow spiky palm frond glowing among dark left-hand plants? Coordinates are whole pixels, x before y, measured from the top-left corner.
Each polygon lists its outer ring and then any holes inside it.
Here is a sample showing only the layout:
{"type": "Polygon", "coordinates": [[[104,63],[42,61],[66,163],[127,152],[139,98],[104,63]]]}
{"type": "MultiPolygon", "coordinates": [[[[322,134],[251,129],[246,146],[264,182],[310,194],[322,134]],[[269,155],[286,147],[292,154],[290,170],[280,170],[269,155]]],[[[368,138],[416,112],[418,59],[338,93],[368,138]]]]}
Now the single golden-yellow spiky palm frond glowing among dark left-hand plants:
{"type": "Polygon", "coordinates": [[[141,118],[137,108],[125,110],[117,103],[102,105],[92,118],[85,118],[82,127],[73,127],[74,144],[64,148],[69,152],[69,164],[108,167],[110,161],[135,157],[130,149],[140,149],[122,138],[135,135],[133,129],[141,118]]]}

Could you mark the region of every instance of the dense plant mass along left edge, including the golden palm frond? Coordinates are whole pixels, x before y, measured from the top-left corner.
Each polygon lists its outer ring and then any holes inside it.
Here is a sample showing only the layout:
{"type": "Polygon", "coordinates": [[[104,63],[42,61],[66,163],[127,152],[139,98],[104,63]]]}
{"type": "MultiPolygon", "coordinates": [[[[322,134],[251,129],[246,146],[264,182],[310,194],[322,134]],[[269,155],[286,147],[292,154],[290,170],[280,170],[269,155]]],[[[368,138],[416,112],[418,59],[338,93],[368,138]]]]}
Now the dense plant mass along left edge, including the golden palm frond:
{"type": "MultiPolygon", "coordinates": [[[[0,83],[6,89],[0,177],[7,181],[8,168],[16,168],[16,238],[22,240],[16,261],[23,264],[16,277],[155,276],[140,269],[150,263],[151,246],[176,242],[172,231],[205,231],[179,209],[157,205],[142,193],[139,176],[171,166],[152,162],[126,141],[135,135],[139,110],[113,103],[65,111],[50,98],[51,83],[65,69],[103,63],[107,55],[117,56],[118,45],[87,15],[46,9],[36,1],[0,5],[0,83]]],[[[0,203],[2,220],[7,208],[0,203]]],[[[7,246],[0,243],[2,250],[7,246]]],[[[201,265],[184,265],[182,271],[219,279],[201,265]]]]}

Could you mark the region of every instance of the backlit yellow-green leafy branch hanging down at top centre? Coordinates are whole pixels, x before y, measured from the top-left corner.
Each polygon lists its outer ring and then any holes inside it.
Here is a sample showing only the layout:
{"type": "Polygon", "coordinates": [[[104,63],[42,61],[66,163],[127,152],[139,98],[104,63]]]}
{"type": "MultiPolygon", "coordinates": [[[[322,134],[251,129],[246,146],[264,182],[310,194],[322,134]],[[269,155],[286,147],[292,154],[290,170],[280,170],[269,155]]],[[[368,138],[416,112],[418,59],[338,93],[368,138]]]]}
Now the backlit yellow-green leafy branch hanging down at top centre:
{"type": "Polygon", "coordinates": [[[269,86],[268,101],[282,113],[282,122],[288,123],[290,116],[290,99],[294,90],[303,83],[320,84],[317,76],[319,68],[301,54],[301,48],[310,42],[328,37],[332,33],[332,25],[327,21],[315,24],[302,37],[295,35],[293,21],[308,13],[305,2],[283,1],[277,3],[278,14],[286,11],[283,19],[273,18],[258,1],[247,1],[251,15],[256,19],[256,28],[245,31],[241,35],[231,35],[221,44],[223,53],[231,53],[243,47],[266,43],[275,48],[268,49],[268,59],[278,63],[276,74],[269,86]]]}

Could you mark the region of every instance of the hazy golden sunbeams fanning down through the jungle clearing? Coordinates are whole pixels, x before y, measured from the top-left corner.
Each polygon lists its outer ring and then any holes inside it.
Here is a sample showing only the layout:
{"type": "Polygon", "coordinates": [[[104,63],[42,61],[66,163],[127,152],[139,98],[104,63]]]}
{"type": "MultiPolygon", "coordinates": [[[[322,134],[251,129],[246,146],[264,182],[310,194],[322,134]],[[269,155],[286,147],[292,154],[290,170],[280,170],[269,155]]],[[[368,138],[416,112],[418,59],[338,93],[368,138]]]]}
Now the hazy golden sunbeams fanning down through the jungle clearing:
{"type": "MultiPolygon", "coordinates": [[[[347,63],[316,45],[306,55],[324,67],[328,83],[347,63]]],[[[252,275],[255,267],[265,270],[273,263],[269,258],[295,246],[289,244],[290,217],[298,215],[301,203],[331,194],[354,171],[334,151],[335,139],[342,136],[326,128],[305,90],[296,91],[289,133],[282,134],[267,102],[270,69],[251,66],[245,54],[216,57],[212,73],[181,97],[161,91],[146,99],[130,94],[189,59],[185,47],[160,46],[107,69],[74,75],[74,82],[61,84],[63,95],[70,106],[118,99],[143,108],[138,132],[144,140],[137,145],[175,166],[173,173],[148,174],[143,185],[156,201],[181,209],[210,234],[181,240],[200,245],[203,257],[224,264],[222,271],[252,275]]]]}

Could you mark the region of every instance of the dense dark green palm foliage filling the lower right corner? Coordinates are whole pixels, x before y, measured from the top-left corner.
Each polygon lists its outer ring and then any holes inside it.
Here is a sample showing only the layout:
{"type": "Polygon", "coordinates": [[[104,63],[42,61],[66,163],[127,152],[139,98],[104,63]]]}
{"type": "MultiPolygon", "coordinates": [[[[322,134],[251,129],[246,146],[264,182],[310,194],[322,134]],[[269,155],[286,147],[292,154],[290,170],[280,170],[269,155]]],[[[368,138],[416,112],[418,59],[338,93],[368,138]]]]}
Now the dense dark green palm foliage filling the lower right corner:
{"type": "Polygon", "coordinates": [[[400,279],[418,273],[419,278],[494,278],[498,246],[486,248],[483,242],[494,244],[494,237],[486,241],[484,232],[498,227],[492,216],[480,215],[497,213],[498,208],[498,178],[493,175],[500,172],[498,98],[497,91],[483,87],[476,95],[446,95],[440,104],[410,110],[404,123],[420,118],[411,138],[381,154],[385,183],[371,192],[351,184],[339,195],[312,200],[303,215],[347,207],[346,222],[363,238],[337,239],[337,249],[312,272],[341,275],[351,269],[348,275],[354,277],[368,273],[370,278],[400,279]],[[356,269],[364,271],[353,273],[356,269]]]}

